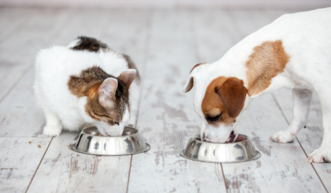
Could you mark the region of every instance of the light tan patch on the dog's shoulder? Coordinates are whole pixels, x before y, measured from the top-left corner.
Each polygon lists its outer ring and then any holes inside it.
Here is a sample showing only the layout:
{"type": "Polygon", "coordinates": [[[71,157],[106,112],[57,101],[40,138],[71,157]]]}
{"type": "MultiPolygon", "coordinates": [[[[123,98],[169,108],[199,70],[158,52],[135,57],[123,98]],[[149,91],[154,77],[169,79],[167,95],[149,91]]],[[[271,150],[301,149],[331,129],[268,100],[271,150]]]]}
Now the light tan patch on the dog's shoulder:
{"type": "Polygon", "coordinates": [[[246,62],[248,94],[259,94],[269,87],[272,78],[284,72],[290,56],[285,52],[283,42],[265,41],[254,48],[246,62]]]}

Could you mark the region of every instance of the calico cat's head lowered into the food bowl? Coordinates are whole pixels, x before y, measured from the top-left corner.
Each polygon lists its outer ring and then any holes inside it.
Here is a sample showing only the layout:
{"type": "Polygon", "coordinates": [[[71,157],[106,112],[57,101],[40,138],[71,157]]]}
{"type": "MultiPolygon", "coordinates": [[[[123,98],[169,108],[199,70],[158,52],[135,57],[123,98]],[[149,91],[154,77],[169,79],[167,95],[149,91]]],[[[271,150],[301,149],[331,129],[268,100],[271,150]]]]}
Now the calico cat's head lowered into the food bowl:
{"type": "Polygon", "coordinates": [[[126,70],[119,77],[107,78],[88,89],[86,113],[102,135],[122,135],[130,119],[129,88],[136,74],[136,70],[126,70]]]}

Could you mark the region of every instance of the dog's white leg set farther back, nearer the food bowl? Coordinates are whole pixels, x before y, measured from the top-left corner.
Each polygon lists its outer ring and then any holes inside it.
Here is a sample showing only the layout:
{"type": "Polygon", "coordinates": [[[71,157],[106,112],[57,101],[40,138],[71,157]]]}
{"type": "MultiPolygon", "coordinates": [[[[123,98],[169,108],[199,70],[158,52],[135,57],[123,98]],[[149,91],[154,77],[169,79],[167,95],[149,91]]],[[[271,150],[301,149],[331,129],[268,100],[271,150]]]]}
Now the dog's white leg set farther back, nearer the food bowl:
{"type": "Polygon", "coordinates": [[[305,128],[307,123],[310,101],[312,99],[312,91],[308,89],[292,89],[293,93],[293,119],[288,127],[288,130],[279,131],[270,136],[270,141],[279,143],[291,143],[295,135],[305,128]]]}

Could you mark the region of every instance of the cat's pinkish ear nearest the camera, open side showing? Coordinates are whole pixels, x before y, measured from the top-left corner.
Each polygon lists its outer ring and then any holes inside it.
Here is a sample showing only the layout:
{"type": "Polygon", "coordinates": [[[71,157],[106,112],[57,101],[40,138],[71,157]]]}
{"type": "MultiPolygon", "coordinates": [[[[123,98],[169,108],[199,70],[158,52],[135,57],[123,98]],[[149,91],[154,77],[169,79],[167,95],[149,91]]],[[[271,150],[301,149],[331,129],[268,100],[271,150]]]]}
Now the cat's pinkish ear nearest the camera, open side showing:
{"type": "Polygon", "coordinates": [[[115,93],[117,90],[117,79],[108,78],[103,81],[100,85],[98,94],[99,94],[99,103],[103,107],[109,107],[112,105],[112,101],[115,99],[115,93]]]}

